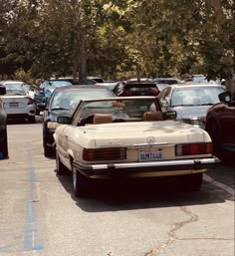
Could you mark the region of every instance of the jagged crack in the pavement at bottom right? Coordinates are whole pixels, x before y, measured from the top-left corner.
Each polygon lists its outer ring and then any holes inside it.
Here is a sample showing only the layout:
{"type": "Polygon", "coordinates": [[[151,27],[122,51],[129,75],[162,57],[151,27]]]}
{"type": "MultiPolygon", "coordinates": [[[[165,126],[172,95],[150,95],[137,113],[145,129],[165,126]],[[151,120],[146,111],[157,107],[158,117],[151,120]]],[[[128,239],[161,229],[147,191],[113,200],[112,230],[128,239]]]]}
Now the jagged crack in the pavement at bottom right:
{"type": "Polygon", "coordinates": [[[172,224],[170,226],[169,231],[167,232],[168,234],[168,239],[166,242],[163,242],[162,244],[158,245],[156,248],[153,248],[150,252],[147,252],[144,254],[144,256],[154,256],[156,255],[156,253],[161,250],[166,248],[167,246],[169,246],[170,244],[172,244],[176,239],[176,234],[175,232],[180,229],[181,227],[183,227],[185,224],[188,223],[192,223],[198,220],[198,215],[191,212],[188,208],[186,208],[185,206],[179,206],[179,209],[187,216],[189,216],[188,220],[185,221],[180,221],[180,222],[176,222],[174,224],[172,224]]]}

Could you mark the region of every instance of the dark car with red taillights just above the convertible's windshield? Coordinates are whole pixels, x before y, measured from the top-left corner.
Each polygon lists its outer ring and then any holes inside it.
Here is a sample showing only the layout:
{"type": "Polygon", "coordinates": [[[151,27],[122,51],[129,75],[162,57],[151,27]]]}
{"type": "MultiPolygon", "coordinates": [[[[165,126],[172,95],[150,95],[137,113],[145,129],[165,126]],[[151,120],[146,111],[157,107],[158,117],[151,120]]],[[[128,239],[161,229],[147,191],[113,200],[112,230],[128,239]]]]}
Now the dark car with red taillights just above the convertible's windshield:
{"type": "Polygon", "coordinates": [[[151,82],[126,81],[118,82],[117,86],[114,88],[114,93],[118,97],[157,96],[159,90],[156,88],[156,85],[151,82]]]}

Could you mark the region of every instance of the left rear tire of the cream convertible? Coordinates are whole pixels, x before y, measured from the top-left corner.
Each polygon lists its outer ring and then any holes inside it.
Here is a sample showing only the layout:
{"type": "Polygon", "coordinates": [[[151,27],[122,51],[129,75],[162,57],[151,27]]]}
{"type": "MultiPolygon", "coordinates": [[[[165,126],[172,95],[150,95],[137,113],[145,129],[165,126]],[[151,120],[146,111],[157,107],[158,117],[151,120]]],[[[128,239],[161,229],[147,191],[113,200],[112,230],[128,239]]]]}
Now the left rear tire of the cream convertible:
{"type": "Polygon", "coordinates": [[[88,195],[88,178],[80,173],[72,164],[72,176],[74,194],[76,197],[85,197],[88,195]]]}

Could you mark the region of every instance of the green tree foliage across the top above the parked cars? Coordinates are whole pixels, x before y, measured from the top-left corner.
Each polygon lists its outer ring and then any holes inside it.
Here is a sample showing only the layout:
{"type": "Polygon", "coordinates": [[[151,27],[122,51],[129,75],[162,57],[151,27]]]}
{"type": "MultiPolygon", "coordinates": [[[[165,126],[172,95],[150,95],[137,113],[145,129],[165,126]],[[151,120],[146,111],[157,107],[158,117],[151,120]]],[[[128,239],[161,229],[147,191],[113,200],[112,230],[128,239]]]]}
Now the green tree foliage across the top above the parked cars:
{"type": "Polygon", "coordinates": [[[231,76],[234,10],[211,1],[0,0],[0,75],[231,76]]]}

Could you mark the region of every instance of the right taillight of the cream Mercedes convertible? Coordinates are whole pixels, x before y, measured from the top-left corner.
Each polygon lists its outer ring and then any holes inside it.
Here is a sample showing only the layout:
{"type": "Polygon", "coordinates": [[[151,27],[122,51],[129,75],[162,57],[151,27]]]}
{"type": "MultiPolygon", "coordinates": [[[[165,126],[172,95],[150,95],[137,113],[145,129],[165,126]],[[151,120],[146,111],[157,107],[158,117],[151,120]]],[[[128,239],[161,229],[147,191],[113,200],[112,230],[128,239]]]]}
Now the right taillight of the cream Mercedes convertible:
{"type": "Polygon", "coordinates": [[[193,154],[209,154],[212,153],[212,143],[187,143],[187,144],[176,144],[175,155],[193,155],[193,154]]]}

